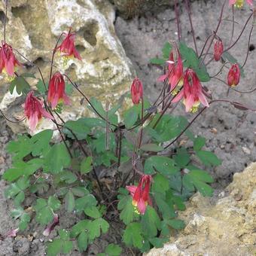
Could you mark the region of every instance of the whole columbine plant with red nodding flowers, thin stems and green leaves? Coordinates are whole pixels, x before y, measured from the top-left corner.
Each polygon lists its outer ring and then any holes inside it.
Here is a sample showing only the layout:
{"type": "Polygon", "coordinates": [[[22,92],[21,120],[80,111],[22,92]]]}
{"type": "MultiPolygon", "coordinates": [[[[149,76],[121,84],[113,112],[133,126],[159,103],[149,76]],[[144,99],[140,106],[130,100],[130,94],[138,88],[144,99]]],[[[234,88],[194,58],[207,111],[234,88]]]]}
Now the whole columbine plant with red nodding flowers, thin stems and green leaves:
{"type": "MultiPolygon", "coordinates": [[[[230,11],[234,12],[234,6],[239,7],[242,2],[230,1],[230,11]]],[[[252,5],[251,1],[247,2],[252,5]]],[[[143,93],[142,81],[135,78],[130,87],[133,106],[123,111],[120,120],[116,114],[120,105],[107,102],[103,107],[97,99],[88,99],[86,92],[68,75],[53,70],[57,52],[66,60],[70,57],[81,60],[75,49],[75,32],[71,29],[62,33],[53,47],[49,86],[37,66],[41,79],[33,74],[19,75],[14,70],[22,66],[14,56],[14,52],[19,51],[4,40],[0,49],[0,72],[14,76],[11,93],[16,88],[18,93],[26,95],[24,117],[30,130],[35,132],[40,120],[47,118],[53,121],[60,135],[60,141],[53,142],[53,130],[43,130],[34,136],[18,136],[8,144],[13,166],[5,171],[3,178],[10,183],[5,195],[14,200],[11,215],[17,220],[17,228],[10,230],[7,236],[23,233],[35,219],[44,227],[42,234],[51,237],[47,242],[47,255],[66,254],[72,248],[87,251],[96,239],[108,232],[111,237],[114,233],[116,239],[112,242],[117,241],[119,245],[111,243],[98,255],[119,255],[122,250],[136,254],[161,247],[173,230],[184,227],[184,222],[178,219],[178,211],[185,209],[184,202],[196,191],[203,196],[211,196],[213,192],[209,185],[213,179],[201,168],[221,164],[215,154],[203,148],[206,139],[190,132],[190,125],[215,102],[226,102],[241,110],[252,109],[228,98],[215,99],[206,90],[205,83],[214,79],[227,85],[228,90],[248,93],[233,88],[244,73],[248,54],[239,65],[228,50],[239,41],[249,21],[252,32],[254,16],[251,13],[236,40],[232,33],[230,42],[222,41],[218,30],[225,4],[227,2],[222,5],[217,28],[206,38],[200,52],[187,0],[185,6],[194,49],[181,42],[175,1],[178,41],[164,45],[163,58],[151,59],[151,63],[163,66],[163,75],[158,78],[163,82],[163,89],[156,102],[149,102],[143,93]],[[209,75],[207,66],[216,65],[213,60],[221,62],[222,67],[216,75],[209,75]],[[227,74],[227,83],[218,78],[221,71],[227,74]],[[27,77],[38,80],[38,91],[30,90],[27,77]],[[94,117],[62,120],[62,108],[72,105],[68,86],[81,93],[85,99],[81,102],[86,102],[94,117]],[[185,111],[194,114],[191,121],[175,116],[172,107],[178,102],[184,104],[185,111]],[[190,140],[193,144],[177,143],[181,136],[185,136],[183,142],[190,140]],[[200,160],[201,168],[195,158],[200,160]],[[25,198],[32,194],[35,201],[26,203],[25,198]],[[62,214],[76,215],[77,221],[70,226],[59,221],[61,209],[62,214]],[[56,237],[51,233],[53,230],[57,231],[56,237]]],[[[234,29],[234,20],[232,26],[234,29]]]]}

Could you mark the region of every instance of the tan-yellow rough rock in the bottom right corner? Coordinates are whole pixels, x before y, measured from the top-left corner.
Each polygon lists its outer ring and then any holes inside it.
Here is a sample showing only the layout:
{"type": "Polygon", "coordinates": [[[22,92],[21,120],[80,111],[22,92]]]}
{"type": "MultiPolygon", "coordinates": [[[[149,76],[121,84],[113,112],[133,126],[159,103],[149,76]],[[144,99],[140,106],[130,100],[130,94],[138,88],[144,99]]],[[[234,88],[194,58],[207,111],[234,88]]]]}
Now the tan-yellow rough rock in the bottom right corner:
{"type": "MultiPolygon", "coordinates": [[[[256,163],[233,175],[227,196],[196,194],[179,218],[187,226],[147,256],[253,255],[256,251],[256,163]]],[[[224,195],[224,194],[223,194],[224,195]]]]}

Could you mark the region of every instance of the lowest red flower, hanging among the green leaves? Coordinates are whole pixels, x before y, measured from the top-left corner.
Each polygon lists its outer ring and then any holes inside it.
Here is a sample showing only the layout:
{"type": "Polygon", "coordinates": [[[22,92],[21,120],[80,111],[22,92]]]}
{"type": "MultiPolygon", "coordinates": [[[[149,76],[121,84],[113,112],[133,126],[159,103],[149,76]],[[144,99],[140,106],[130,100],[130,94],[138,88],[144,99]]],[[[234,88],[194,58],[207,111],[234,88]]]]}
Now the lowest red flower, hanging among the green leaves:
{"type": "Polygon", "coordinates": [[[151,198],[149,197],[151,180],[151,175],[142,175],[138,186],[126,186],[126,189],[133,197],[133,206],[135,206],[139,213],[142,215],[145,214],[148,204],[152,205],[151,198]]]}

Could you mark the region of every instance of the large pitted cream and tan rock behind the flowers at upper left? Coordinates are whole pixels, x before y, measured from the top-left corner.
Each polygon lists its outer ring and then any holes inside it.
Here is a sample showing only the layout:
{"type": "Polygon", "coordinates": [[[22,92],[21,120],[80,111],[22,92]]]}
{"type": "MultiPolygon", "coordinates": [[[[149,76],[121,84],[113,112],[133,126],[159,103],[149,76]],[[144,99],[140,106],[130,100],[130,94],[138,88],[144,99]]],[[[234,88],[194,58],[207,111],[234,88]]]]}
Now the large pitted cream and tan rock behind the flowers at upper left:
{"type": "MultiPolygon", "coordinates": [[[[5,11],[3,2],[0,3],[0,11],[5,11]]],[[[5,17],[5,14],[2,13],[2,16],[5,17]]],[[[72,27],[72,31],[76,32],[76,47],[81,53],[82,61],[69,59],[65,66],[63,58],[56,54],[53,72],[57,70],[66,72],[89,98],[96,96],[104,103],[108,96],[111,103],[115,104],[120,96],[130,90],[135,72],[115,34],[114,19],[114,9],[108,1],[11,1],[8,6],[6,38],[14,49],[18,49],[26,58],[39,66],[47,81],[51,53],[56,40],[63,31],[67,32],[69,27],[72,27]]],[[[23,68],[17,70],[19,74],[37,72],[21,56],[18,56],[18,59],[25,63],[23,68]]],[[[36,74],[39,78],[38,72],[36,74]]],[[[32,88],[35,88],[35,83],[32,84],[32,88]]],[[[8,117],[19,119],[23,116],[20,105],[24,99],[17,93],[14,95],[7,93],[7,90],[8,84],[2,78],[1,109],[8,109],[5,111],[8,117]]],[[[62,112],[64,120],[74,120],[88,114],[85,107],[87,102],[81,105],[81,98],[80,94],[73,92],[72,107],[65,108],[62,112]]],[[[11,123],[10,126],[15,132],[22,131],[22,126],[17,127],[16,124],[11,123]]],[[[45,127],[51,128],[52,123],[43,121],[38,131],[45,127]]]]}

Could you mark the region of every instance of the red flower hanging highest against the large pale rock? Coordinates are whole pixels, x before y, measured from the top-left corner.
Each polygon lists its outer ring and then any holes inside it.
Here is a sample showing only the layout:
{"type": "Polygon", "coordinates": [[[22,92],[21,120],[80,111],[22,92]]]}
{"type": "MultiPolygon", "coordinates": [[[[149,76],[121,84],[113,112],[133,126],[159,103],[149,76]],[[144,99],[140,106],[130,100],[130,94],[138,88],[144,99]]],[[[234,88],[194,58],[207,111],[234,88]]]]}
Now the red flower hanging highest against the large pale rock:
{"type": "Polygon", "coordinates": [[[80,54],[78,53],[78,50],[75,49],[75,32],[71,32],[69,30],[69,33],[66,34],[66,38],[62,41],[62,44],[60,44],[58,47],[56,47],[56,50],[59,49],[59,51],[63,54],[63,56],[66,57],[75,57],[77,59],[82,59],[80,54]]]}

